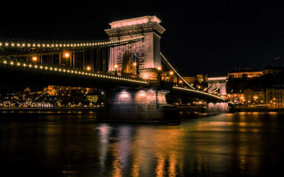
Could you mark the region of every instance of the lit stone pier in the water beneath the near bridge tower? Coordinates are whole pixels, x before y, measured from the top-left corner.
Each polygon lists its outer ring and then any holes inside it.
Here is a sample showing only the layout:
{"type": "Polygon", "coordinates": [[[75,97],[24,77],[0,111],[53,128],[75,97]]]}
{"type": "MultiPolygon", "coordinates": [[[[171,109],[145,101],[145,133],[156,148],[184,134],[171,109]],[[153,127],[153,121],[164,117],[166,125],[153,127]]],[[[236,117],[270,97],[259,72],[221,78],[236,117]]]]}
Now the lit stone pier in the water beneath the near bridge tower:
{"type": "Polygon", "coordinates": [[[180,113],[160,91],[107,91],[98,122],[178,123],[180,113]]]}

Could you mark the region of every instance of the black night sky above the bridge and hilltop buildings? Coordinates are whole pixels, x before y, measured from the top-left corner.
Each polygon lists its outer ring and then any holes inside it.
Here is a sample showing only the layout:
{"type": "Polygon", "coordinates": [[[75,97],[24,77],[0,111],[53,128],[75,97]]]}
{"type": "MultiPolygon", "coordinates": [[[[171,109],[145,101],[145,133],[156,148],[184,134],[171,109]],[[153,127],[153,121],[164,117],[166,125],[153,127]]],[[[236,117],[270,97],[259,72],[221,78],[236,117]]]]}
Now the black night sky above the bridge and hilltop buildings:
{"type": "Polygon", "coordinates": [[[11,1],[1,6],[0,38],[106,39],[111,21],[155,15],[164,55],[182,74],[226,74],[278,66],[284,10],[272,1],[11,1]]]}

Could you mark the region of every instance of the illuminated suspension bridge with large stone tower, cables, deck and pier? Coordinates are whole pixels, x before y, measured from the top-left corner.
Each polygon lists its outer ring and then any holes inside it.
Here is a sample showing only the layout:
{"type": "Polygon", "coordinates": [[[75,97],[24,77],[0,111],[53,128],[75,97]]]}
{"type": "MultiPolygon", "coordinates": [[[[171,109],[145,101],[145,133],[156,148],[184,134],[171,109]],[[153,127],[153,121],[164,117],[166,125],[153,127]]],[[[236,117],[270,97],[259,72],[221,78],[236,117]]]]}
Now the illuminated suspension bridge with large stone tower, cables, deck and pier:
{"type": "Polygon", "coordinates": [[[160,22],[156,16],[114,21],[105,30],[107,40],[2,39],[0,80],[103,89],[109,106],[102,116],[116,120],[170,120],[174,108],[167,104],[168,94],[226,102],[192,87],[170,64],[160,51],[165,31],[160,22]]]}

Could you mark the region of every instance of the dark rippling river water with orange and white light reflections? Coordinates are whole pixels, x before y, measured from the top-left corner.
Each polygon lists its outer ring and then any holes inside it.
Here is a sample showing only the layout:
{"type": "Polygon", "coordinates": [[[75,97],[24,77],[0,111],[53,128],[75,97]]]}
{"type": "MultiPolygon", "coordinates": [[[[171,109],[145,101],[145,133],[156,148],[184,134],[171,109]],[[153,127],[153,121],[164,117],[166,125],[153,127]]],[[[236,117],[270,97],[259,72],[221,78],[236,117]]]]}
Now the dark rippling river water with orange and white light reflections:
{"type": "Polygon", "coordinates": [[[95,118],[0,113],[1,176],[274,176],[284,169],[283,113],[182,113],[180,125],[95,118]]]}

